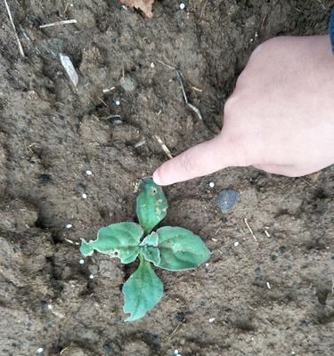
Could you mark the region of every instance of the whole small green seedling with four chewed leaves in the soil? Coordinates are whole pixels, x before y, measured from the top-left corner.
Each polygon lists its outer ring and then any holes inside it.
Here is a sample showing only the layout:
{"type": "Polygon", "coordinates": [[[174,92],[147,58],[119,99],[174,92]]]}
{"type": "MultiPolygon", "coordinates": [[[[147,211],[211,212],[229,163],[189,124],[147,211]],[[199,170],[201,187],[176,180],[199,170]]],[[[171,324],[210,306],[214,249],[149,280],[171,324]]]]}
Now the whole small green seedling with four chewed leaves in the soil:
{"type": "Polygon", "coordinates": [[[80,251],[93,255],[94,250],[118,257],[121,263],[133,263],[139,257],[139,266],[126,280],[123,311],[130,316],[126,321],[143,318],[159,303],[164,286],[155,274],[154,266],[168,271],[191,270],[208,260],[210,251],[199,236],[179,228],[164,226],[152,231],[167,214],[167,199],[161,187],[151,178],[139,185],[136,201],[137,223],[114,223],[102,228],[97,239],[82,239],[80,251]]]}

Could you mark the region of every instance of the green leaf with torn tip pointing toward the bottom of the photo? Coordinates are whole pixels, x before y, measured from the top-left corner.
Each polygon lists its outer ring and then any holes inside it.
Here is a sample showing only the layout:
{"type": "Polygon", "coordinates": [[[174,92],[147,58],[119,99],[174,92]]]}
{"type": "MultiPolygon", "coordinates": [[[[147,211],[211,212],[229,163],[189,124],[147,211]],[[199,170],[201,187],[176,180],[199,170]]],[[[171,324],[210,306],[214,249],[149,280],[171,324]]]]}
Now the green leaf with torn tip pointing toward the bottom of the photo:
{"type": "Polygon", "coordinates": [[[134,321],[143,318],[159,303],[164,286],[151,268],[151,263],[140,255],[139,267],[126,280],[122,292],[125,297],[123,311],[131,314],[126,321],[134,321]]]}

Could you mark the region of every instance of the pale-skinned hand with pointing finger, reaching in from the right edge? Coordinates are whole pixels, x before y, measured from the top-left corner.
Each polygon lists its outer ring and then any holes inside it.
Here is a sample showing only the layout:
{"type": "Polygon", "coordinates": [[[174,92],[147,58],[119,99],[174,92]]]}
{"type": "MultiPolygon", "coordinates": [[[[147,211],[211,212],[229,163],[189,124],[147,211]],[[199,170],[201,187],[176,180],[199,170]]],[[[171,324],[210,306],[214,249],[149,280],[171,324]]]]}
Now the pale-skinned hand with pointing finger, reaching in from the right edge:
{"type": "Polygon", "coordinates": [[[334,164],[334,55],[329,36],[275,37],[252,53],[208,142],[154,172],[160,185],[255,166],[298,177],[334,164]]]}

